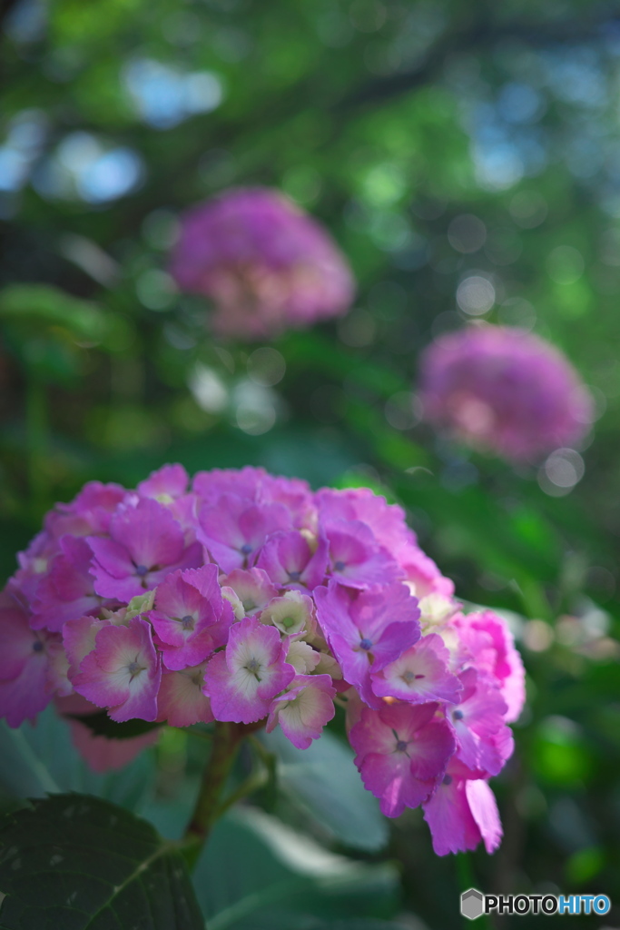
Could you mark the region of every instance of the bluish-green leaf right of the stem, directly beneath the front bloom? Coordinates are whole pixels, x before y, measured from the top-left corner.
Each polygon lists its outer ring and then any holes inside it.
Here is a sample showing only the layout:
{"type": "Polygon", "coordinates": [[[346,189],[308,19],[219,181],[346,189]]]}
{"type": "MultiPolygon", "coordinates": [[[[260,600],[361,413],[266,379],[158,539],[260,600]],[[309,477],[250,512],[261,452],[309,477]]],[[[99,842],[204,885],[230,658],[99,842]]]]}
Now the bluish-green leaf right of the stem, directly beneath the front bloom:
{"type": "Polygon", "coordinates": [[[374,851],[388,842],[386,818],[363,787],[349,747],[327,731],[307,750],[297,750],[277,728],[261,739],[278,756],[282,790],[306,817],[357,849],[374,851]]]}

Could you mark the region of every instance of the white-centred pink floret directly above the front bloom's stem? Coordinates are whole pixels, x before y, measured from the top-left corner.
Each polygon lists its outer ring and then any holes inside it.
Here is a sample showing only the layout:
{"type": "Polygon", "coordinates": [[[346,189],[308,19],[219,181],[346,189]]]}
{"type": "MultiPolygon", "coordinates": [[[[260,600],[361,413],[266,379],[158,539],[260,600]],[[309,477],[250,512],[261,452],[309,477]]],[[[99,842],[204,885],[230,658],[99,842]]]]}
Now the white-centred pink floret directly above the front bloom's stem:
{"type": "Polygon", "coordinates": [[[266,717],[273,697],[295,678],[285,658],[275,627],[253,617],[233,624],[225,652],[206,667],[204,694],[211,698],[216,719],[254,724],[266,717]]]}

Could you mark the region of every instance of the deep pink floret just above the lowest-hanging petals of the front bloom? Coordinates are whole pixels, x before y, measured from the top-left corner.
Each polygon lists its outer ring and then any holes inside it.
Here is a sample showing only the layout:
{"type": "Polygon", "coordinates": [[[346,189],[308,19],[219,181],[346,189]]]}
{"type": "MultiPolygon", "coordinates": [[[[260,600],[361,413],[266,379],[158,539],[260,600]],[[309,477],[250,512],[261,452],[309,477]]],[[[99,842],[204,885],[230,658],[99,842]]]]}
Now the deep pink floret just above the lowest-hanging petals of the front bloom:
{"type": "Polygon", "coordinates": [[[426,801],[455,751],[449,726],[435,717],[438,705],[384,704],[364,708],[350,731],[355,764],[387,817],[426,801]]]}

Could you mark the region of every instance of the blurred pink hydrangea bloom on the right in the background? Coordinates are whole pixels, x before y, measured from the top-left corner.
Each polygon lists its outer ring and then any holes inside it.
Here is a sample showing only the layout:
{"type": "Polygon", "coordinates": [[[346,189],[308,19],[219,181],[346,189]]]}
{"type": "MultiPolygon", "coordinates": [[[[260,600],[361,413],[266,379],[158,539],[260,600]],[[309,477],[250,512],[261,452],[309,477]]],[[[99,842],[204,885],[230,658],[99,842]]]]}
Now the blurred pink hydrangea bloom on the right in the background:
{"type": "Polygon", "coordinates": [[[431,422],[512,461],[578,442],[593,412],[561,352],[510,326],[468,326],[436,339],[422,355],[421,398],[431,422]]]}

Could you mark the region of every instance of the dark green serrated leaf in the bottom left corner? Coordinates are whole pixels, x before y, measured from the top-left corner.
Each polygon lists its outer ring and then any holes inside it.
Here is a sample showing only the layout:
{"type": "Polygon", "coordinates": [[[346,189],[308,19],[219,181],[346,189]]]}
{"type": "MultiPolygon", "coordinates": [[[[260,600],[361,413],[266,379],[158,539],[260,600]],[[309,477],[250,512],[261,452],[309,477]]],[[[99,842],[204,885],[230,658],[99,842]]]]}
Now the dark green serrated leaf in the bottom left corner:
{"type": "Polygon", "coordinates": [[[203,930],[184,861],[151,824],[59,794],[0,828],[2,930],[203,930]]]}

